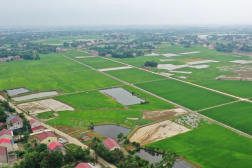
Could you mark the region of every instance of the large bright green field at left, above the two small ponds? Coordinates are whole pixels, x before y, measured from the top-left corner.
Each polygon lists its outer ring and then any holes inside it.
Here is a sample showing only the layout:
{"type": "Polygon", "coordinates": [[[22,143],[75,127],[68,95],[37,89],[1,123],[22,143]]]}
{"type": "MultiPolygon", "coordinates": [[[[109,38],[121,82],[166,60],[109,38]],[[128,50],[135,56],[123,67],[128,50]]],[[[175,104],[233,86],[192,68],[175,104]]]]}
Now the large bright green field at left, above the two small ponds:
{"type": "Polygon", "coordinates": [[[0,65],[0,88],[83,91],[121,83],[62,56],[41,55],[37,61],[13,61],[0,65]]]}

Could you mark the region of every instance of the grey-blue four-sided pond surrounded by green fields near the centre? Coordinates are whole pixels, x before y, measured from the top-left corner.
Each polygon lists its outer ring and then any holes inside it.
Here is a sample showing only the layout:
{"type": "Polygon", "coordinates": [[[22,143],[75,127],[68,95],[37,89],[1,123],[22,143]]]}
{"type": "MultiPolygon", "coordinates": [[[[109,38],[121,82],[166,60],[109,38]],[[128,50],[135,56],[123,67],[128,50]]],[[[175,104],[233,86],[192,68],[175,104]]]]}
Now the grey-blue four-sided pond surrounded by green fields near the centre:
{"type": "Polygon", "coordinates": [[[140,104],[141,102],[144,102],[143,99],[140,99],[137,96],[132,95],[130,92],[128,92],[123,88],[105,89],[100,90],[100,92],[108,94],[109,96],[113,97],[118,103],[121,103],[126,106],[140,104]]]}

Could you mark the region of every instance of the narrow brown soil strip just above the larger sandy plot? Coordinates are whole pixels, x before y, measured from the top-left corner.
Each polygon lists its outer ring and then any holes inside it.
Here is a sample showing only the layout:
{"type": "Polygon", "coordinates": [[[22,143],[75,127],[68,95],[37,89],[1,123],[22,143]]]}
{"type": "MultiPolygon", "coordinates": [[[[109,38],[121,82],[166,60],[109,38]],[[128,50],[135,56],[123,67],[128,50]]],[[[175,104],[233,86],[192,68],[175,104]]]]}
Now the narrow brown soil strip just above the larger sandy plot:
{"type": "Polygon", "coordinates": [[[164,118],[171,118],[186,113],[187,111],[185,111],[182,108],[176,108],[171,110],[160,110],[160,111],[145,111],[143,112],[142,118],[148,120],[162,120],[164,118]]]}

